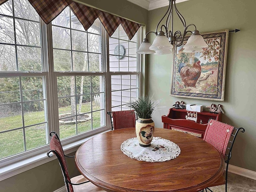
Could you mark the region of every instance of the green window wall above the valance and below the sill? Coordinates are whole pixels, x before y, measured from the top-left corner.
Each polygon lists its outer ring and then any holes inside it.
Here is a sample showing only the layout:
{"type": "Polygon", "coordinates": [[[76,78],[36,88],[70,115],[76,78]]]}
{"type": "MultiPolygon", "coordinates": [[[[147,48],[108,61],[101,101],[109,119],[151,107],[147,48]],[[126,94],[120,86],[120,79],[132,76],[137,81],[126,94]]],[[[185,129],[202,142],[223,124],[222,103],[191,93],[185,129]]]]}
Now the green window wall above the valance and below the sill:
{"type": "MultiPolygon", "coordinates": [[[[80,2],[141,24],[147,24],[148,11],[126,0],[80,0],[80,2]]],[[[76,169],[74,159],[69,159],[67,163],[70,176],[80,174],[76,169]]],[[[1,181],[0,192],[53,192],[62,186],[64,186],[64,180],[58,160],[53,160],[1,181]]]]}

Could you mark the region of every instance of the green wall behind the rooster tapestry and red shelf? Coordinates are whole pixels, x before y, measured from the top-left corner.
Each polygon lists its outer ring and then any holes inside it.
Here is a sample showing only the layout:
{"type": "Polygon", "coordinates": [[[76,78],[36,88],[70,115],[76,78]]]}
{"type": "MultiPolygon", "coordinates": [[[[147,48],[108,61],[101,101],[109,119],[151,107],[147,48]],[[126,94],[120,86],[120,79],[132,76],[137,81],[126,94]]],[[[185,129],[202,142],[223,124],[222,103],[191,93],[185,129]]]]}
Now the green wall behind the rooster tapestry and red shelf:
{"type": "MultiPolygon", "coordinates": [[[[222,121],[246,132],[236,138],[230,164],[256,171],[256,40],[255,0],[190,0],[177,4],[187,24],[195,24],[200,32],[235,28],[229,33],[226,63],[226,85],[224,102],[197,100],[169,96],[172,77],[172,55],[150,55],[146,63],[146,90],[155,99],[161,99],[160,108],[153,116],[156,127],[162,127],[162,115],[176,101],[186,104],[222,104],[225,114],[222,121]]],[[[155,30],[167,7],[149,11],[148,30],[155,30]]],[[[174,18],[174,30],[178,20],[174,18]]],[[[193,30],[193,28],[192,28],[193,30]]],[[[154,35],[150,34],[150,42],[154,35]]],[[[207,110],[204,108],[204,110],[207,110]]]]}

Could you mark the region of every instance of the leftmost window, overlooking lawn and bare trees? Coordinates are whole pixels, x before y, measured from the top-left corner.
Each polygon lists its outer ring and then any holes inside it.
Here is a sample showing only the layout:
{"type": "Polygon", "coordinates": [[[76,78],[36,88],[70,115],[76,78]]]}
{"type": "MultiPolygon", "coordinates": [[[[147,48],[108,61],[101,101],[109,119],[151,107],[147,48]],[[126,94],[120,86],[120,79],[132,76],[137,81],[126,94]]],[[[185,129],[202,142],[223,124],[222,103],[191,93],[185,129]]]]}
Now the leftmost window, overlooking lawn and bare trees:
{"type": "Polygon", "coordinates": [[[29,2],[0,6],[0,159],[48,144],[42,30],[29,2]]]}

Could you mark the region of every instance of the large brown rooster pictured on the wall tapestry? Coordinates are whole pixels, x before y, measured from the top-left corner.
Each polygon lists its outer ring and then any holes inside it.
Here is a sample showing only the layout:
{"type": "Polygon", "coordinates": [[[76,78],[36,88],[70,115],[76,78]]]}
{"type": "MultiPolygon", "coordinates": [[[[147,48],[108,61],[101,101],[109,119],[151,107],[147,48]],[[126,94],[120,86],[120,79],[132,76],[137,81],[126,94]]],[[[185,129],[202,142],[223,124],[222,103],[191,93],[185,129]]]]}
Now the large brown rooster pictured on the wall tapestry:
{"type": "Polygon", "coordinates": [[[196,61],[192,67],[188,67],[184,63],[180,63],[179,65],[179,73],[186,87],[196,87],[196,82],[200,77],[201,71],[200,61],[196,61]]]}

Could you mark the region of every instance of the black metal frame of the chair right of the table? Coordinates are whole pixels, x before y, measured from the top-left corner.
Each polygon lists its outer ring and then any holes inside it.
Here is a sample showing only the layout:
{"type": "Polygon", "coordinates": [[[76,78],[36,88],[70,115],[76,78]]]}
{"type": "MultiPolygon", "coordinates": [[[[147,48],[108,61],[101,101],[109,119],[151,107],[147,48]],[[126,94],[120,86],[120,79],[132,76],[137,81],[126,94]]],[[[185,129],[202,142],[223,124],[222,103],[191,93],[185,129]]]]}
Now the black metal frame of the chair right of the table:
{"type": "MultiPolygon", "coordinates": [[[[210,121],[210,120],[209,120],[209,121],[210,121]]],[[[234,130],[233,130],[233,132],[232,132],[232,134],[231,134],[231,136],[230,136],[230,139],[229,139],[229,144],[231,144],[231,146],[230,146],[230,147],[227,146],[227,148],[226,148],[225,157],[227,157],[227,160],[225,160],[225,163],[226,163],[225,192],[228,191],[228,190],[227,190],[227,187],[228,187],[228,186],[227,186],[227,185],[228,185],[228,165],[229,165],[229,160],[231,159],[231,155],[232,155],[231,151],[232,151],[232,148],[233,148],[233,145],[234,145],[236,136],[237,136],[238,132],[240,132],[240,131],[241,131],[242,133],[244,133],[244,132],[245,132],[245,129],[242,128],[242,127],[240,127],[240,128],[235,128],[235,127],[234,127],[234,130]],[[228,154],[227,154],[227,153],[228,153],[228,154]]],[[[210,188],[205,188],[205,189],[203,189],[201,192],[204,192],[204,190],[205,190],[206,192],[208,192],[208,190],[209,190],[210,192],[213,192],[210,188]]]]}

